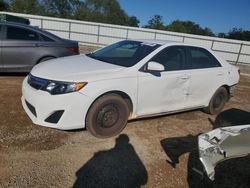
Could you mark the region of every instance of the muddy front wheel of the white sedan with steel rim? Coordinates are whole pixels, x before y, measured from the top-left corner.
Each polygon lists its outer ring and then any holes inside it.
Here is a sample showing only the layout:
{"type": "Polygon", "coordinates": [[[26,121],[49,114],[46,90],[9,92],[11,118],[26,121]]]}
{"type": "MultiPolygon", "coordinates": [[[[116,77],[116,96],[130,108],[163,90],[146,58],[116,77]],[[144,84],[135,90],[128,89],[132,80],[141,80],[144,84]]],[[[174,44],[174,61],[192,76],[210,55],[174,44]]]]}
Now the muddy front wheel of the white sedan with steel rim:
{"type": "Polygon", "coordinates": [[[104,95],[90,107],[86,117],[86,127],[95,137],[112,137],[123,130],[128,116],[128,105],[121,96],[104,95]]]}

